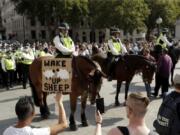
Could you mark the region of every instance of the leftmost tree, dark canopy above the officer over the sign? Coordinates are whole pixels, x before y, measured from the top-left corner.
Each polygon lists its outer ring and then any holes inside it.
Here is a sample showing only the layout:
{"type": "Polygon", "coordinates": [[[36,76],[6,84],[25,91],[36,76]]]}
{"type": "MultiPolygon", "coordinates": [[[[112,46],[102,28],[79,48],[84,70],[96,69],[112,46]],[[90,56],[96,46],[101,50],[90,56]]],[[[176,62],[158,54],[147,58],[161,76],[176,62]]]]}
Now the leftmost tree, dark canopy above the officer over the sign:
{"type": "Polygon", "coordinates": [[[88,0],[12,0],[19,14],[37,17],[48,24],[68,21],[77,24],[88,13],[88,0]]]}

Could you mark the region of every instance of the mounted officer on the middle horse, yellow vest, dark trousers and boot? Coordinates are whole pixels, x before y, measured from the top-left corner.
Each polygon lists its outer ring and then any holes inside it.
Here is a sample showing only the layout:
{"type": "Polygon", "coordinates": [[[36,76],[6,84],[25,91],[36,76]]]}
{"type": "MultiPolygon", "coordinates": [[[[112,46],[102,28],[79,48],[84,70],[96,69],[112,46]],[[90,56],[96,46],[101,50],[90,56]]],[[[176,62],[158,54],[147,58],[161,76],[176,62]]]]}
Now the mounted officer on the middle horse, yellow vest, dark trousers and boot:
{"type": "Polygon", "coordinates": [[[122,44],[120,40],[120,30],[118,28],[111,28],[111,38],[108,40],[108,71],[109,71],[109,76],[108,80],[112,80],[113,76],[113,67],[115,66],[115,59],[116,57],[119,57],[122,54],[127,53],[126,47],[122,44]]]}

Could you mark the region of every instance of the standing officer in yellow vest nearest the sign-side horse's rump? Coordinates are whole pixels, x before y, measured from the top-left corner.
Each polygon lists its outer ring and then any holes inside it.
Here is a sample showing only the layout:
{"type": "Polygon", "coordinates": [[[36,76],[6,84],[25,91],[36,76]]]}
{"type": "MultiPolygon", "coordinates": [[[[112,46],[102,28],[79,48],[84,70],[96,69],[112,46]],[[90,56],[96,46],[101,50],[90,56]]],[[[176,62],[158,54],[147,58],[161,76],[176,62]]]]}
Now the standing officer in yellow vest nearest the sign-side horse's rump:
{"type": "Polygon", "coordinates": [[[22,79],[23,79],[24,89],[26,89],[26,84],[29,79],[29,66],[32,64],[33,60],[34,60],[33,50],[30,48],[30,45],[27,43],[22,53],[22,79]]]}

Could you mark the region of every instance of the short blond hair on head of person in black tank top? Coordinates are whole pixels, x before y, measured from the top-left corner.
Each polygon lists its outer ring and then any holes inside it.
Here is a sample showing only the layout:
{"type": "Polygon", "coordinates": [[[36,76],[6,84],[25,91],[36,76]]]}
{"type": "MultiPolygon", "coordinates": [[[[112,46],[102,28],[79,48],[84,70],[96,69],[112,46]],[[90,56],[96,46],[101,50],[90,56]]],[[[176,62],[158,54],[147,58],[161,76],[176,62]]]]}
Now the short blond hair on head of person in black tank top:
{"type": "Polygon", "coordinates": [[[141,93],[131,93],[127,99],[128,107],[137,117],[145,116],[149,102],[149,99],[143,96],[141,93]]]}

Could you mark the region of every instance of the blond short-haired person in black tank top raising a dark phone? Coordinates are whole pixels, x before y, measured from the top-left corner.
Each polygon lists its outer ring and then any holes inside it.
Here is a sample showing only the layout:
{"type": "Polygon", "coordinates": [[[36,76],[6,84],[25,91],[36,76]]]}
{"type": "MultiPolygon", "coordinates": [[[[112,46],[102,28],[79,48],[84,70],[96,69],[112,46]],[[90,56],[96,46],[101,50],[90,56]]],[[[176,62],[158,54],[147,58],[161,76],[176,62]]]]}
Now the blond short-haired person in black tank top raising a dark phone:
{"type": "MultiPolygon", "coordinates": [[[[149,105],[149,99],[142,96],[141,93],[131,93],[126,102],[126,113],[129,119],[127,127],[118,126],[112,128],[108,135],[156,135],[151,132],[145,123],[145,114],[149,105]]],[[[96,113],[95,135],[101,135],[102,116],[96,113]]]]}

